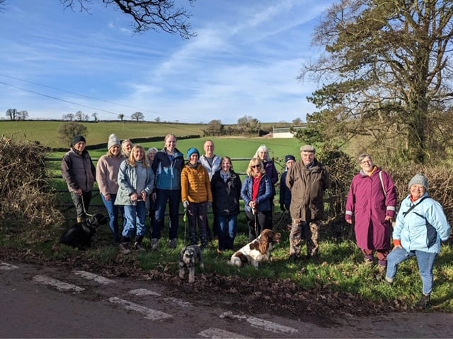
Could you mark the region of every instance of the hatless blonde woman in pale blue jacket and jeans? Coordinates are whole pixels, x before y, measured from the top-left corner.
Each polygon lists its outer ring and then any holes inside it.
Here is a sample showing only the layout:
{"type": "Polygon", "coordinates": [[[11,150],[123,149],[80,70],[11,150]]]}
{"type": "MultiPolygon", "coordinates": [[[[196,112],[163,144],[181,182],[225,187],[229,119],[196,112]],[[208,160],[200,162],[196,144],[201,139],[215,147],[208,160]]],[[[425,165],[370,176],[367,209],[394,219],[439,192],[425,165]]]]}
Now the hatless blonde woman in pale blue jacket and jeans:
{"type": "Polygon", "coordinates": [[[141,145],[134,145],[129,158],[120,165],[115,205],[125,208],[120,251],[130,252],[131,237],[135,234],[134,249],[144,251],[142,240],[146,233],[145,220],[149,210],[149,194],[154,189],[154,172],[141,145]]]}

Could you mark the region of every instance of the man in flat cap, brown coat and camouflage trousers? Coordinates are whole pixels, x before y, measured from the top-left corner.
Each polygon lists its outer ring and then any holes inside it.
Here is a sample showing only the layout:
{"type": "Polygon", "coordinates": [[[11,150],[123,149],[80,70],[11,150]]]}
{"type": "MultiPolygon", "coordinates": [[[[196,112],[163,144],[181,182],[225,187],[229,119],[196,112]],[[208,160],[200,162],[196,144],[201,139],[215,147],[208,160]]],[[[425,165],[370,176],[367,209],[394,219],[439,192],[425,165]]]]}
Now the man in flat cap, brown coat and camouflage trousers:
{"type": "Polygon", "coordinates": [[[291,190],[289,258],[294,261],[301,256],[302,239],[306,241],[309,258],[316,257],[319,251],[319,227],[324,214],[323,194],[331,182],[326,168],[316,160],[315,153],[312,145],[302,146],[302,160],[292,165],[286,177],[286,185],[291,190]]]}

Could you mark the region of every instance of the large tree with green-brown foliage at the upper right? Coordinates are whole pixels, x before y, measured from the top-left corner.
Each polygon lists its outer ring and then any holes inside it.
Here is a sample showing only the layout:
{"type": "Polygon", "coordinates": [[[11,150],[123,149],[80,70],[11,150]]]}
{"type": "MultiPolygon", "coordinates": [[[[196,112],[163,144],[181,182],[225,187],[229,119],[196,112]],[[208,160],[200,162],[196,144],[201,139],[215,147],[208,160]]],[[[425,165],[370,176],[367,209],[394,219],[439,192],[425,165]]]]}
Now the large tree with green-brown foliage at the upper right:
{"type": "Polygon", "coordinates": [[[337,143],[371,137],[418,163],[445,152],[452,16],[453,2],[441,0],[343,0],[328,8],[313,40],[326,53],[300,76],[324,83],[308,98],[320,110],[301,133],[337,143]]]}

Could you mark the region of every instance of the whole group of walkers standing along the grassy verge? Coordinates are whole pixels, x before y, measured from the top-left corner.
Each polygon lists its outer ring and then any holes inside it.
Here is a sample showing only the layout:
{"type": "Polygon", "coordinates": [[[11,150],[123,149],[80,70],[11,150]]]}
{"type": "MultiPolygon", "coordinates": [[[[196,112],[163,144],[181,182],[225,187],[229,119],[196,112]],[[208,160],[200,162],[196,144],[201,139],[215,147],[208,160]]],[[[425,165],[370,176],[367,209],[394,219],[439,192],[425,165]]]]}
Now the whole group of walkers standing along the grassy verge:
{"type": "MultiPolygon", "coordinates": [[[[108,215],[114,242],[127,253],[130,247],[144,250],[145,220],[151,220],[151,249],[158,249],[168,203],[170,215],[169,246],[178,244],[179,207],[183,203],[188,217],[190,244],[208,246],[218,237],[217,251],[233,249],[236,237],[239,200],[245,204],[248,237],[256,239],[264,229],[273,227],[273,206],[278,172],[269,150],[260,145],[250,160],[243,183],[233,169],[230,157],[214,153],[214,143],[205,142],[205,154],[190,148],[184,155],[176,148],[177,139],[168,134],[164,148],[150,148],[130,140],[120,143],[112,134],[108,138],[108,153],[95,168],[83,136],[74,137],[71,150],[62,160],[63,177],[68,184],[76,207],[77,220],[86,216],[93,184],[99,190],[108,215]],[[208,225],[208,210],[212,208],[212,233],[208,225]],[[123,213],[122,232],[118,215],[123,213]],[[197,232],[198,230],[198,232],[197,232]],[[134,239],[132,239],[134,238],[134,239]]],[[[280,177],[280,208],[289,210],[292,226],[289,234],[289,258],[298,261],[302,243],[306,256],[319,256],[319,229],[323,220],[323,194],[331,185],[329,174],[316,159],[311,145],[300,148],[301,160],[294,155],[285,157],[285,172],[280,177]]],[[[398,197],[391,176],[374,165],[372,157],[358,157],[360,172],[352,179],[346,200],[345,220],[355,227],[357,246],[364,262],[374,265],[385,281],[393,283],[398,265],[415,256],[423,280],[420,307],[430,303],[433,267],[440,244],[451,232],[440,203],[428,196],[428,179],[417,174],[408,184],[410,194],[402,201],[397,213],[398,197]],[[391,248],[393,239],[394,247],[391,248]]]]}

